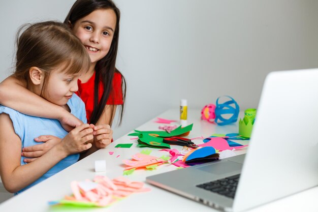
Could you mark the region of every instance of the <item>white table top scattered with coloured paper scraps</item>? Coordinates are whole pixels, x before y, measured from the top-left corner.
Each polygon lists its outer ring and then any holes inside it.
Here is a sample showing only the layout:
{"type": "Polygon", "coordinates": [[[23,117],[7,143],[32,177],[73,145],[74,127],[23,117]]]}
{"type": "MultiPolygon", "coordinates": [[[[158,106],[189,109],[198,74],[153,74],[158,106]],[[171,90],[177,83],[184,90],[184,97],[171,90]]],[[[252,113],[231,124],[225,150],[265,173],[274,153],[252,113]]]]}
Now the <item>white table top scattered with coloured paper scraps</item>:
{"type": "MultiPolygon", "coordinates": [[[[200,115],[200,110],[188,111],[188,124],[194,123],[193,130],[189,134],[188,138],[200,136],[208,137],[213,133],[227,134],[238,132],[237,123],[227,126],[217,126],[215,124],[201,121],[200,115]]],[[[158,115],[157,117],[178,120],[179,112],[177,109],[172,109],[158,115]]],[[[240,114],[240,117],[242,117],[242,113],[240,114]]],[[[154,119],[151,119],[149,122],[138,127],[137,130],[157,130],[158,126],[162,124],[154,123],[154,119]]],[[[48,205],[48,201],[59,200],[65,195],[70,195],[72,193],[70,187],[71,181],[93,179],[93,177],[97,174],[94,172],[94,161],[96,160],[107,161],[107,173],[102,174],[106,174],[109,178],[115,178],[122,175],[124,167],[122,160],[131,159],[131,156],[136,153],[140,153],[142,148],[136,147],[136,145],[133,145],[131,148],[114,148],[114,146],[118,143],[137,144],[137,140],[131,140],[131,138],[133,137],[127,135],[122,136],[115,142],[111,143],[107,148],[98,150],[96,153],[55,174],[49,179],[44,180],[42,183],[34,186],[33,188],[5,201],[4,203],[0,204],[0,211],[217,211],[193,200],[186,199],[148,184],[146,184],[145,187],[151,188],[150,192],[133,194],[126,199],[114,203],[108,208],[80,208],[66,206],[51,207],[48,205]],[[114,152],[114,154],[109,155],[109,151],[114,152]],[[117,155],[120,156],[116,158],[117,155]]],[[[202,140],[194,141],[197,143],[202,143],[202,140]]],[[[248,141],[239,142],[242,144],[248,144],[248,141]]],[[[179,150],[182,148],[179,146],[172,147],[179,150]]],[[[151,149],[151,155],[153,156],[168,156],[167,152],[158,152],[158,149],[151,149]]],[[[246,153],[246,147],[236,150],[235,153],[237,155],[246,153]]],[[[158,166],[157,169],[153,171],[137,169],[132,175],[127,177],[131,180],[145,181],[146,176],[175,169],[176,167],[174,165],[164,164],[158,166]]],[[[254,208],[250,211],[318,211],[318,206],[316,204],[317,197],[318,187],[315,187],[310,190],[306,190],[304,192],[254,208]]]]}

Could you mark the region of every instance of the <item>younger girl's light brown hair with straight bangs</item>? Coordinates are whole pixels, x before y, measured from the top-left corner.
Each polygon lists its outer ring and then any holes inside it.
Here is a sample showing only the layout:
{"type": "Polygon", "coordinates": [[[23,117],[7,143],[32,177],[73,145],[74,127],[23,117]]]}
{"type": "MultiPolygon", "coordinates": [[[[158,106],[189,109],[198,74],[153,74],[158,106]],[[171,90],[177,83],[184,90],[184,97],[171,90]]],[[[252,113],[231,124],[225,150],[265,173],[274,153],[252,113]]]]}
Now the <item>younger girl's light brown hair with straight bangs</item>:
{"type": "Polygon", "coordinates": [[[45,73],[44,89],[53,69],[62,66],[67,74],[75,74],[87,71],[90,66],[89,55],[81,41],[60,22],[23,25],[17,33],[16,46],[14,76],[28,82],[29,69],[37,67],[45,73]]]}

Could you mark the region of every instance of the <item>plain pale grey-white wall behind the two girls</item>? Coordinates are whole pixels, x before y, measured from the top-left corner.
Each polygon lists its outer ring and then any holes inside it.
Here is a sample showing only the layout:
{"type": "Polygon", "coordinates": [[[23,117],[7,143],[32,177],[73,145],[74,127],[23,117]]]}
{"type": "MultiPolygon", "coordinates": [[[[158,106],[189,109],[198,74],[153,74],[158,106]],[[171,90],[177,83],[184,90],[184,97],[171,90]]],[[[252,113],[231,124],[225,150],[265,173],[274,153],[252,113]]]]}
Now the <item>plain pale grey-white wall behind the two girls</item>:
{"type": "MultiPolygon", "coordinates": [[[[0,80],[12,71],[25,22],[62,21],[74,0],[1,1],[0,80]]],[[[315,0],[115,0],[121,10],[117,67],[128,83],[114,137],[186,98],[189,108],[230,95],[257,107],[270,71],[318,67],[315,0]]],[[[200,114],[198,114],[199,118],[200,114]]]]}

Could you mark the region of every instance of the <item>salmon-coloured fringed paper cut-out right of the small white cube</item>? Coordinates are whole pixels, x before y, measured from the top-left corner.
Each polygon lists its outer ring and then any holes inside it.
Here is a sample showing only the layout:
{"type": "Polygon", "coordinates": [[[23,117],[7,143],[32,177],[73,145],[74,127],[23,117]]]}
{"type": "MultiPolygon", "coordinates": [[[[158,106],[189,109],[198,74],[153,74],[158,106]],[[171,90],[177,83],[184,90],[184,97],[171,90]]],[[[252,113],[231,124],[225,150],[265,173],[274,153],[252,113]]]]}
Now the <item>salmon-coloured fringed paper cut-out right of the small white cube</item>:
{"type": "Polygon", "coordinates": [[[161,165],[164,160],[150,155],[144,155],[137,153],[132,156],[133,160],[123,160],[122,162],[126,165],[124,170],[134,169],[134,168],[146,168],[150,165],[161,165]]]}

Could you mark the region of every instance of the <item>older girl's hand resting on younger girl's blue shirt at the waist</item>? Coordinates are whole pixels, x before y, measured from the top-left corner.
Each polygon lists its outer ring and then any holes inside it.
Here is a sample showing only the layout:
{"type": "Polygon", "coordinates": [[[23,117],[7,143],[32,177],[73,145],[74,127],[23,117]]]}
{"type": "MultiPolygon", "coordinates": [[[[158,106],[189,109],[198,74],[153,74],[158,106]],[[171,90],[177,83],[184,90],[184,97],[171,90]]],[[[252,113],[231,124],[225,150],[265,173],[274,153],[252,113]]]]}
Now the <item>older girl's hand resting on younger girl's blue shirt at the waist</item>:
{"type": "Polygon", "coordinates": [[[34,139],[37,142],[45,142],[34,146],[27,146],[22,148],[21,156],[27,157],[23,161],[30,163],[37,158],[43,156],[49,149],[58,144],[61,139],[53,135],[41,135],[34,139]]]}

